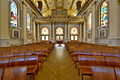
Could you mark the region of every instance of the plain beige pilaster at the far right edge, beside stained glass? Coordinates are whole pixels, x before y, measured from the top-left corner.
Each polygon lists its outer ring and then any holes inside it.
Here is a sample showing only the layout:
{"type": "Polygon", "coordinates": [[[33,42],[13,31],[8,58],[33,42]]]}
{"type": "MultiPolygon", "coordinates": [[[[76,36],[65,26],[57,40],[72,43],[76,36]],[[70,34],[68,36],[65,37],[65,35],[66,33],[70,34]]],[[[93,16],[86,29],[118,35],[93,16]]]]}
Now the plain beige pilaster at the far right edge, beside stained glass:
{"type": "Polygon", "coordinates": [[[110,46],[120,46],[120,5],[117,0],[109,1],[109,43],[110,46]]]}

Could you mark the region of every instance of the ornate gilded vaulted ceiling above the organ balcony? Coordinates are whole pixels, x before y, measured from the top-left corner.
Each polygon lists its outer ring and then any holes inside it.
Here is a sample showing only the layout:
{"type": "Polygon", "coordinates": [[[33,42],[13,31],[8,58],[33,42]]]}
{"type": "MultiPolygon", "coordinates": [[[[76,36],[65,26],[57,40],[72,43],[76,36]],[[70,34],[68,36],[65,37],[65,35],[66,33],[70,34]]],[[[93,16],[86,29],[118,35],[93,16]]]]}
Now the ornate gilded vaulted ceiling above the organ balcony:
{"type": "Polygon", "coordinates": [[[84,3],[86,0],[32,0],[36,6],[38,6],[38,1],[42,1],[42,11],[43,15],[48,15],[51,10],[55,10],[59,7],[66,10],[72,10],[72,13],[77,14],[76,2],[82,1],[84,3]]]}

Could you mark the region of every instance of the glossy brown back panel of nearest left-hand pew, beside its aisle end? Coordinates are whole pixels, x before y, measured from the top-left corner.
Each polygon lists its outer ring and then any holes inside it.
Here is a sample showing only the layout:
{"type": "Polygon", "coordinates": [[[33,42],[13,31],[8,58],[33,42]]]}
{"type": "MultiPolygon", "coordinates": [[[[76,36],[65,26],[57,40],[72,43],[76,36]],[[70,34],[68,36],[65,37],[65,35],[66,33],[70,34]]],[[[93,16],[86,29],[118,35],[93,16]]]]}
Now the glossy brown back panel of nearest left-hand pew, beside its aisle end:
{"type": "Polygon", "coordinates": [[[27,67],[9,67],[4,69],[3,80],[26,80],[27,67]]]}

